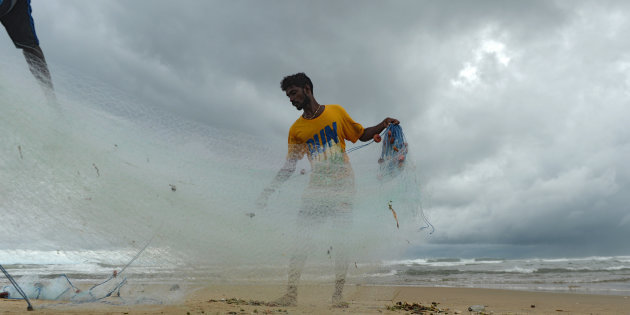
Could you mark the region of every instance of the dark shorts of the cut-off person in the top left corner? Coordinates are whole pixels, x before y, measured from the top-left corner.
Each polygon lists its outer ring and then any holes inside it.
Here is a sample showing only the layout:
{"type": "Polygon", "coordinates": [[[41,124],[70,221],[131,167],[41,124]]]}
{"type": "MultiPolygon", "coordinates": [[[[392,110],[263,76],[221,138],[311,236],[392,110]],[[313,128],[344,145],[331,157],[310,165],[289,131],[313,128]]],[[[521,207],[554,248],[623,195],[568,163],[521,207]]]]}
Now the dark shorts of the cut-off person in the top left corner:
{"type": "Polygon", "coordinates": [[[39,46],[31,16],[31,0],[0,0],[0,21],[17,48],[39,46]],[[12,7],[13,6],[13,7],[12,7]]]}

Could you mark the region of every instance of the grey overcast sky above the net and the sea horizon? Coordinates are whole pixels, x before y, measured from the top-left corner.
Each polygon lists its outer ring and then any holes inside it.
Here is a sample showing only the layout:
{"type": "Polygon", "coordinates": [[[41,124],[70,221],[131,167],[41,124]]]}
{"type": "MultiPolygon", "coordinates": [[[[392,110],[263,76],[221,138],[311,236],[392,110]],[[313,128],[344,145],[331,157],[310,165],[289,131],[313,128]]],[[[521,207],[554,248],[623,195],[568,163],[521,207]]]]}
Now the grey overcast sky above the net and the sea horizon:
{"type": "Polygon", "coordinates": [[[186,119],[284,142],[298,113],[279,82],[301,71],[320,103],[364,125],[399,118],[433,244],[630,255],[625,1],[32,6],[53,77],[93,78],[186,119]]]}

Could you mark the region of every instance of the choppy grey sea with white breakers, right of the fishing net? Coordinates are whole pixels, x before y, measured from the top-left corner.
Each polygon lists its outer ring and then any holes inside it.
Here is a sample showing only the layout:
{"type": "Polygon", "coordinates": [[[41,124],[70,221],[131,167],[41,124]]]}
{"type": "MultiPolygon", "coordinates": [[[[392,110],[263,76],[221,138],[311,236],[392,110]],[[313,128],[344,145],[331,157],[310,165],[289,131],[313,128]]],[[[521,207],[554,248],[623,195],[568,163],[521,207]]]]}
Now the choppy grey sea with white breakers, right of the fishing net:
{"type": "Polygon", "coordinates": [[[630,257],[444,258],[385,262],[375,284],[630,294],[630,257]]]}

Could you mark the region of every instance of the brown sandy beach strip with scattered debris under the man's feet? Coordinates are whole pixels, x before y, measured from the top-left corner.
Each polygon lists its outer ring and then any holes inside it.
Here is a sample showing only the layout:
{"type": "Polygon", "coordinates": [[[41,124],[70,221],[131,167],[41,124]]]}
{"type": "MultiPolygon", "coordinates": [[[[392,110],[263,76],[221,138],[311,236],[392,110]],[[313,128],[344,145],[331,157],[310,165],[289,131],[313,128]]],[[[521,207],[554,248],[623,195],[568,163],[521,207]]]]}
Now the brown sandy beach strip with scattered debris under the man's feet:
{"type": "MultiPolygon", "coordinates": [[[[55,301],[33,301],[29,314],[410,314],[391,309],[398,302],[432,306],[426,314],[469,314],[468,308],[482,305],[487,314],[630,314],[630,298],[616,295],[526,292],[470,288],[349,285],[347,308],[330,304],[332,287],[304,285],[298,306],[264,305],[280,296],[280,285],[220,285],[197,287],[187,298],[171,305],[113,305],[108,301],[62,305],[55,301]],[[263,303],[259,303],[263,302],[263,303]]],[[[112,300],[114,302],[115,300],[112,300]]],[[[0,313],[27,313],[22,300],[0,300],[0,313]]],[[[475,313],[475,312],[472,312],[475,313]]]]}

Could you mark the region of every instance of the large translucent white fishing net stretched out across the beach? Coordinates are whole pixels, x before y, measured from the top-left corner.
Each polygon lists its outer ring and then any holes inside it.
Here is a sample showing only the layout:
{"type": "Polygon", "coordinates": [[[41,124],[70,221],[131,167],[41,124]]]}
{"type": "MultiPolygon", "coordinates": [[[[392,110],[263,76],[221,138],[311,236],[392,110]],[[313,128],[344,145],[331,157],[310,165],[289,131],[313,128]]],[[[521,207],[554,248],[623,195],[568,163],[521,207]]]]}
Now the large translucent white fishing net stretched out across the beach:
{"type": "MultiPolygon", "coordinates": [[[[30,73],[21,77],[8,63],[0,65],[0,132],[6,139],[0,142],[0,179],[7,183],[0,189],[0,263],[25,296],[166,302],[185,292],[170,290],[180,284],[286,281],[295,247],[290,236],[303,232],[298,212],[311,174],[296,172],[266,209],[255,207],[284,161],[286,143],[182,119],[59,71],[60,106],[47,106],[33,93],[39,87],[30,73]],[[151,246],[121,270],[151,235],[151,246]],[[151,288],[156,283],[162,291],[151,288]]],[[[309,252],[303,279],[321,281],[340,240],[355,266],[349,281],[358,283],[370,272],[368,264],[422,242],[413,212],[418,188],[406,180],[414,178],[413,167],[407,156],[397,162],[394,145],[400,151],[405,142],[402,129],[392,128],[382,135],[391,141],[391,131],[394,139],[384,153],[372,146],[352,157],[356,192],[332,192],[352,200],[353,224],[341,235],[334,218],[315,218],[328,221],[312,224],[317,248],[309,252]],[[376,163],[379,154],[382,164],[376,163]],[[390,200],[399,228],[392,224],[390,200]]],[[[307,159],[297,167],[309,169],[307,159]]],[[[313,210],[327,207],[322,202],[313,210]]],[[[324,280],[334,277],[326,274],[324,280]]],[[[21,296],[9,285],[3,291],[21,296]]]]}

